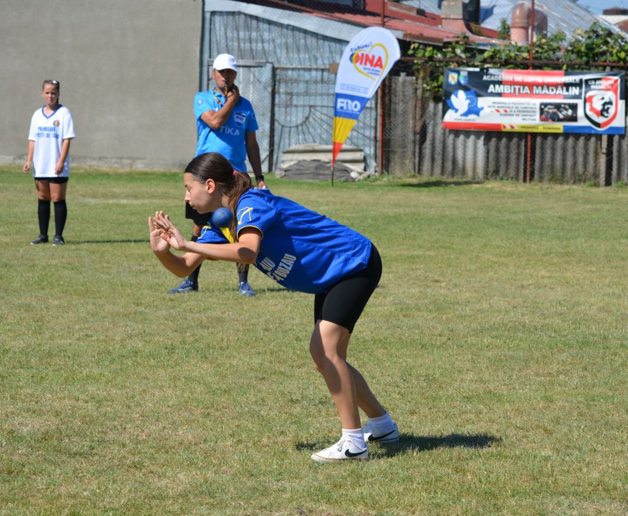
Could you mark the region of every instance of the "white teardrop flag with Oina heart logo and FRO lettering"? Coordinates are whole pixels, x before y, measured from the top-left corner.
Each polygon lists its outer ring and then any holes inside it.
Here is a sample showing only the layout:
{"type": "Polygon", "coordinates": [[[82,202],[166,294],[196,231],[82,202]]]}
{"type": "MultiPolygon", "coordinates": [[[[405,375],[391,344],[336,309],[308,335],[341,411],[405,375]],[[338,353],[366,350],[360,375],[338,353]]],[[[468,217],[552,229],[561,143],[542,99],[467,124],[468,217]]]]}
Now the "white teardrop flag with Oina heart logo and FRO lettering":
{"type": "Polygon", "coordinates": [[[366,28],[349,41],[338,65],[333,109],[333,165],[362,109],[394,63],[401,57],[399,43],[391,31],[366,28]]]}

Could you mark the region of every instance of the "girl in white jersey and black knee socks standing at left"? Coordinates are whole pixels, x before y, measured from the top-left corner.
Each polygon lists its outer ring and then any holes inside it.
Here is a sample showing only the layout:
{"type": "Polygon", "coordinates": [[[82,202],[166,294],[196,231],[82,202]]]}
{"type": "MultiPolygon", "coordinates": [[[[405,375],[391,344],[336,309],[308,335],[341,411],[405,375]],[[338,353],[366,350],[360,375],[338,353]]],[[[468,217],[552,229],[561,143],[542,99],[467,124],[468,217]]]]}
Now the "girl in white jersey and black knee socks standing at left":
{"type": "Polygon", "coordinates": [[[63,245],[63,228],[67,218],[65,192],[70,176],[70,140],[75,138],[72,114],[59,104],[59,82],[45,80],[41,96],[46,102],[31,118],[28,133],[28,157],[24,173],[33,167],[37,190],[40,235],[31,244],[48,242],[50,200],[55,206],[55,238],[53,246],[63,245]]]}

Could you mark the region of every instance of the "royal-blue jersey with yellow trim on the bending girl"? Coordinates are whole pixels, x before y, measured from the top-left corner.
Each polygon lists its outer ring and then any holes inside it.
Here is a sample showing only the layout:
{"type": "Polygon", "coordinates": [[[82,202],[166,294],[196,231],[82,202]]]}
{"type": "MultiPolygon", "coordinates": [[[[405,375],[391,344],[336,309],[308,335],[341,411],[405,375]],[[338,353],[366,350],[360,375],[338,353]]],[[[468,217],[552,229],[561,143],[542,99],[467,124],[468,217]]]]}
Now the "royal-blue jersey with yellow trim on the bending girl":
{"type": "MultiPolygon", "coordinates": [[[[362,270],[371,256],[371,241],[296,202],[251,189],[237,204],[237,232],[257,228],[262,233],[255,265],[280,285],[318,294],[349,274],[362,270]]],[[[198,243],[229,239],[208,222],[198,243]]]]}

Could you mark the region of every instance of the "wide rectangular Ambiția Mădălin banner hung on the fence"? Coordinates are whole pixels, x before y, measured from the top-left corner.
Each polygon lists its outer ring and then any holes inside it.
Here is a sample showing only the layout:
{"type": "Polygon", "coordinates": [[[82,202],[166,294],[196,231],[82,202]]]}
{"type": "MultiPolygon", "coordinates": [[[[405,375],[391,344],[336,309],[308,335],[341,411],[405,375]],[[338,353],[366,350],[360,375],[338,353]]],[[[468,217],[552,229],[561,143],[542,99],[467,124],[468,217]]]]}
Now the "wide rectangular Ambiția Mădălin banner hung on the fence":
{"type": "Polygon", "coordinates": [[[625,133],[624,72],[447,68],[443,128],[625,133]]]}

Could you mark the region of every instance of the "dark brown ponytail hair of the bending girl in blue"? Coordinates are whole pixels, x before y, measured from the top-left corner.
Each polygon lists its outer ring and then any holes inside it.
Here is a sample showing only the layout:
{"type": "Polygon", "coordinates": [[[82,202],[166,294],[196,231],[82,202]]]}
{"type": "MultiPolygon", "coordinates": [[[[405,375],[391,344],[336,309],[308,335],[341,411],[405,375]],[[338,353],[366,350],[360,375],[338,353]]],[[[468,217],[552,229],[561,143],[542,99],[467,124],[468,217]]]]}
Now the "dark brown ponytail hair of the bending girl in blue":
{"type": "Polygon", "coordinates": [[[236,207],[241,195],[253,187],[249,174],[234,170],[229,160],[217,152],[199,154],[188,163],[185,172],[192,174],[194,180],[199,183],[205,183],[208,179],[214,180],[222,193],[227,195],[227,206],[233,216],[229,231],[237,242],[236,207]]]}

